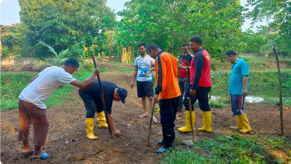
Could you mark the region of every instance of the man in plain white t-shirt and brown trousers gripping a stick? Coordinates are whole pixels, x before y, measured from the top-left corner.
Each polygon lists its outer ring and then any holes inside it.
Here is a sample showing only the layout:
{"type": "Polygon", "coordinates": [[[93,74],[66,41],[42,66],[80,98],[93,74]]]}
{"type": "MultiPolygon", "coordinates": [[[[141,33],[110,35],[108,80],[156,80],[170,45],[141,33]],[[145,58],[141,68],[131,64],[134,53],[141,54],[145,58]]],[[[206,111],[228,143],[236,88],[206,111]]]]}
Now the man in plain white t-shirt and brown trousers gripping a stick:
{"type": "Polygon", "coordinates": [[[52,66],[44,69],[31,79],[29,85],[19,95],[19,130],[18,141],[23,141],[21,154],[32,155],[33,158],[46,160],[52,155],[41,151],[45,145],[49,130],[49,119],[44,104],[54,90],[61,85],[71,84],[79,88],[85,88],[100,72],[98,68],[85,80],[79,81],[72,74],[79,67],[75,58],[69,58],[61,67],[52,66]],[[29,146],[29,131],[31,124],[34,128],[34,151],[29,146]]]}

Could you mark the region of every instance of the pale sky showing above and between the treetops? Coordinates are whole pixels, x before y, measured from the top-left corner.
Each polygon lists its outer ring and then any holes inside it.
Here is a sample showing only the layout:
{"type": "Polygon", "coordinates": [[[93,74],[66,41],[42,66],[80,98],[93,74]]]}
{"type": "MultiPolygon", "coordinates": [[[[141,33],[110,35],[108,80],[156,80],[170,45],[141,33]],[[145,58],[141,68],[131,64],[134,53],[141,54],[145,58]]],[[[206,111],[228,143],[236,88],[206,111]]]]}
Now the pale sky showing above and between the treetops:
{"type": "MultiPolygon", "coordinates": [[[[2,25],[12,25],[12,23],[20,23],[19,11],[20,7],[18,4],[18,0],[0,0],[0,24],[2,25]]],[[[128,0],[107,0],[107,5],[111,8],[111,10],[118,11],[123,10],[124,3],[128,0]]],[[[247,0],[240,0],[241,5],[244,6],[247,0]]],[[[253,9],[252,7],[248,7],[249,9],[253,9]]],[[[125,9],[125,8],[124,8],[125,9]]],[[[117,21],[119,21],[121,17],[117,17],[117,21]]],[[[245,20],[244,25],[242,25],[242,31],[246,31],[246,29],[251,27],[251,20],[245,20]]],[[[253,31],[256,31],[256,25],[267,25],[267,22],[260,22],[254,25],[252,28],[253,31]]]]}

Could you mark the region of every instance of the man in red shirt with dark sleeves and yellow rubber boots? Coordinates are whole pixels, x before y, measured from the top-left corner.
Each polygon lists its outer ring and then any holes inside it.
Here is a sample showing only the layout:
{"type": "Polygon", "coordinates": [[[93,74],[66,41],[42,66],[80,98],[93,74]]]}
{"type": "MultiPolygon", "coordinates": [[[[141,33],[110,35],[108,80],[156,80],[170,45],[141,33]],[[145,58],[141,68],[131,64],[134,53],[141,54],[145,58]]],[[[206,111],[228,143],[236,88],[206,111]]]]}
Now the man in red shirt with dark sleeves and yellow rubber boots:
{"type": "Polygon", "coordinates": [[[183,128],[178,128],[180,132],[191,132],[189,103],[187,97],[190,97],[192,107],[192,123],[195,125],[194,103],[198,100],[199,108],[202,110],[203,127],[198,128],[200,131],[211,132],[211,109],[208,104],[208,92],[212,86],[210,80],[210,55],[206,50],[201,48],[202,39],[199,36],[194,36],[190,39],[190,48],[195,53],[191,67],[186,69],[191,70],[191,83],[185,94],[183,105],[185,106],[186,125],[183,128]]]}

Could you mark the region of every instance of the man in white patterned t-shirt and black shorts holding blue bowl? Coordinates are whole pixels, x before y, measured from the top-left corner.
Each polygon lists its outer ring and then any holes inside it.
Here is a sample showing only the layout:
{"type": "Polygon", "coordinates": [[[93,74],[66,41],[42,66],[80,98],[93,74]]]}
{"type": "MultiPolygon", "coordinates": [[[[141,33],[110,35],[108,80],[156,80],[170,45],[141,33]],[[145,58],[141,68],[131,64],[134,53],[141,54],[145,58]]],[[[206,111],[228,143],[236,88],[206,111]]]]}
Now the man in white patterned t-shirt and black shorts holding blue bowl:
{"type": "MultiPolygon", "coordinates": [[[[143,105],[143,110],[145,114],[139,116],[148,117],[150,116],[148,113],[148,106],[151,109],[154,99],[154,89],[152,83],[152,71],[155,71],[155,59],[150,57],[150,55],[145,53],[146,46],[144,42],[141,42],[137,45],[139,48],[139,57],[136,57],[134,60],[134,71],[133,71],[133,78],[130,87],[134,87],[134,80],[136,78],[136,90],[137,90],[137,97],[141,97],[141,104],[143,105]],[[148,71],[142,71],[141,68],[148,68],[148,71]],[[146,98],[148,97],[148,106],[146,102],[146,98]]],[[[153,116],[152,121],[155,124],[158,124],[159,121],[153,116]]]]}

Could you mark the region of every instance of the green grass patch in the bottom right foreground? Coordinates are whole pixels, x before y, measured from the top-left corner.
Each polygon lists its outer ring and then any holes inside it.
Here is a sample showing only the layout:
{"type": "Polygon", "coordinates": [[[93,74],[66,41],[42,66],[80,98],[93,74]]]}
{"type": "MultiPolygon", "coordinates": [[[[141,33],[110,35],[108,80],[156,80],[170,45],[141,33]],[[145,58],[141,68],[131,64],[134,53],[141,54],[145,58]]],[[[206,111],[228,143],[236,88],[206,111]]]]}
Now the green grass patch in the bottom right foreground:
{"type": "Polygon", "coordinates": [[[181,146],[181,149],[166,152],[162,163],[265,164],[291,162],[291,145],[285,137],[258,137],[256,135],[247,137],[237,133],[233,133],[231,137],[233,139],[227,138],[224,134],[217,134],[212,139],[194,143],[193,148],[185,149],[181,146]],[[268,152],[269,149],[288,152],[286,153],[288,157],[273,159],[272,154],[268,152]]]}

